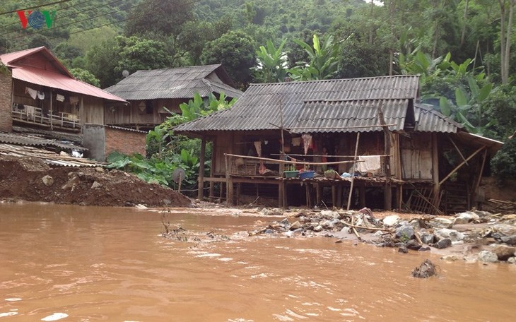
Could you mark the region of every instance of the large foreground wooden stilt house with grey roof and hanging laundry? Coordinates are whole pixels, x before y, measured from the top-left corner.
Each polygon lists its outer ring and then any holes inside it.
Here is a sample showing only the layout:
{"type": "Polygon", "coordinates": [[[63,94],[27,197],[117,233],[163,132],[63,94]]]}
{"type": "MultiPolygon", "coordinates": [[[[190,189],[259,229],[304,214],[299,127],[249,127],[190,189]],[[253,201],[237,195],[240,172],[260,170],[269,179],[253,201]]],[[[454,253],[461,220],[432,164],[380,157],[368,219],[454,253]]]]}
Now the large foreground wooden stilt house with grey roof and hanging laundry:
{"type": "Polygon", "coordinates": [[[469,209],[481,201],[481,177],[503,143],[422,105],[418,81],[253,84],[231,109],[175,132],[202,138],[203,150],[213,142],[209,177],[201,160],[199,198],[209,183],[209,198],[230,205],[262,199],[283,207],[469,209]],[[304,169],[315,173],[286,178],[287,170],[304,169]]]}

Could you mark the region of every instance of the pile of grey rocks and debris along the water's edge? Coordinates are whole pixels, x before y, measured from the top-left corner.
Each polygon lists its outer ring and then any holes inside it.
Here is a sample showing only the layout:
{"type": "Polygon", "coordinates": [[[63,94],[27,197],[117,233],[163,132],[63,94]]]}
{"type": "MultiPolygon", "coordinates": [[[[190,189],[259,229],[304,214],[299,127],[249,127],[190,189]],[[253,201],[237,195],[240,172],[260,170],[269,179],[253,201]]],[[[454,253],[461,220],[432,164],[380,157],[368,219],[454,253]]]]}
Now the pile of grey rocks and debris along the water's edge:
{"type": "Polygon", "coordinates": [[[516,263],[516,215],[468,211],[450,217],[422,215],[402,220],[398,215],[377,219],[371,210],[302,211],[289,219],[272,222],[249,234],[283,234],[287,237],[327,236],[343,239],[353,234],[377,246],[397,247],[400,252],[430,251],[462,245],[462,254],[445,259],[516,263]]]}

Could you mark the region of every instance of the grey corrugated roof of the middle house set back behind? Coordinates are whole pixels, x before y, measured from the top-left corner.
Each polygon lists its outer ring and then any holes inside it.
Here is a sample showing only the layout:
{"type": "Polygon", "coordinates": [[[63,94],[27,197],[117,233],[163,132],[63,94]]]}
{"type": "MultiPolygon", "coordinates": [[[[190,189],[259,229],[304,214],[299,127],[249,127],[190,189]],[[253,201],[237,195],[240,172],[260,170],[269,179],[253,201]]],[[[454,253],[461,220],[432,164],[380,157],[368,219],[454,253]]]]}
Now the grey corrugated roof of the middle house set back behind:
{"type": "Polygon", "coordinates": [[[240,97],[242,92],[227,83],[207,80],[211,73],[228,79],[221,64],[180,68],[136,71],[119,83],[106,88],[125,100],[156,100],[160,98],[192,98],[195,93],[207,97],[209,93],[224,92],[230,97],[240,97]]]}

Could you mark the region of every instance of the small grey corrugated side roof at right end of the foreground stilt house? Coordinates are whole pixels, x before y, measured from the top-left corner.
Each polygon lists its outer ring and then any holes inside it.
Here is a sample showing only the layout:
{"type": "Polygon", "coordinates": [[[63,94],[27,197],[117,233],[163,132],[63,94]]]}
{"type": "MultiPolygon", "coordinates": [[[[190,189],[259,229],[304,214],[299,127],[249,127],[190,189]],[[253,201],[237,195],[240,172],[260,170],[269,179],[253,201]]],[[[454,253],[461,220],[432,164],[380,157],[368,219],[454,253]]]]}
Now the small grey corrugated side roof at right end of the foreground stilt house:
{"type": "Polygon", "coordinates": [[[433,109],[432,105],[414,104],[414,131],[457,133],[462,125],[433,109]]]}

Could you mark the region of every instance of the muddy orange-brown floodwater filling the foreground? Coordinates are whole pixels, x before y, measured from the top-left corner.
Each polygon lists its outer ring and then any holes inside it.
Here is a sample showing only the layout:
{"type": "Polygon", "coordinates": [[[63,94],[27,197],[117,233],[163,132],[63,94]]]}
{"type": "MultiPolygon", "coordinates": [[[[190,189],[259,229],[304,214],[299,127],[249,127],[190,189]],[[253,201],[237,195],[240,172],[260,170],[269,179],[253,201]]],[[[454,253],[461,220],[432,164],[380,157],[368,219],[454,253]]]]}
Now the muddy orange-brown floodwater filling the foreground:
{"type": "Polygon", "coordinates": [[[0,204],[0,321],[516,321],[516,266],[324,237],[247,237],[271,217],[0,204]],[[410,273],[426,258],[440,274],[410,273]]]}

